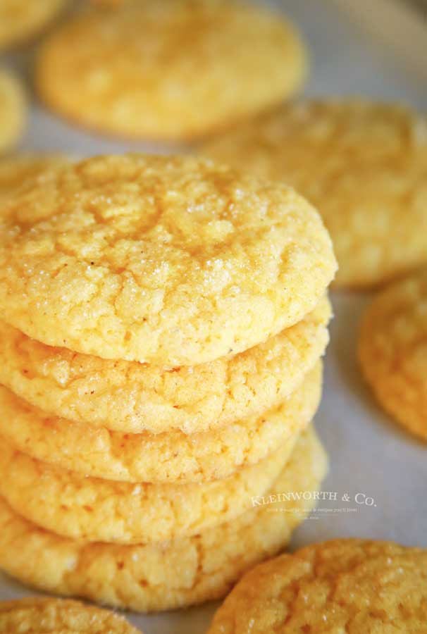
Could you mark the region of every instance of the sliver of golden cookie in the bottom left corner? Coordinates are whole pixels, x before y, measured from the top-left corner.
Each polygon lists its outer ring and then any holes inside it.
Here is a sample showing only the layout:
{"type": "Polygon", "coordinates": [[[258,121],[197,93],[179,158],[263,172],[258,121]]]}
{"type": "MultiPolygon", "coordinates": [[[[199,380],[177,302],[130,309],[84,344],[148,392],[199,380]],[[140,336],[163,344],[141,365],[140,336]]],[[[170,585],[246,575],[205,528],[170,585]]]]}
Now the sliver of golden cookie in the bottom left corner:
{"type": "Polygon", "coordinates": [[[124,616],[70,599],[0,602],[0,634],[138,634],[124,616]]]}

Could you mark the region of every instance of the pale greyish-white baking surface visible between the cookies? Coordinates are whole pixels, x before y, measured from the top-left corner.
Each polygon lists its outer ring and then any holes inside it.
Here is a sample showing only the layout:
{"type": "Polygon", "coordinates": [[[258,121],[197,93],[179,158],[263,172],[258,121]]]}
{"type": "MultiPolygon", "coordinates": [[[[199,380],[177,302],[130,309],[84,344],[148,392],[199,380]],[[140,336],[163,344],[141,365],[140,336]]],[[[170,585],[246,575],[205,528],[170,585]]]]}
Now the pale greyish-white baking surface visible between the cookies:
{"type": "MultiPolygon", "coordinates": [[[[419,68],[411,65],[411,56],[399,57],[390,42],[380,44],[382,41],[373,37],[375,29],[379,35],[388,29],[387,13],[383,15],[383,25],[373,24],[365,32],[354,13],[346,12],[349,2],[352,0],[276,3],[295,19],[310,45],[312,74],[306,94],[366,94],[407,101],[426,111],[427,85],[419,68]]],[[[425,35],[426,44],[427,30],[425,35]]],[[[400,39],[405,37],[410,49],[413,38],[403,30],[400,39]]],[[[20,54],[11,61],[23,72],[28,70],[28,56],[20,54]]],[[[36,103],[23,148],[71,151],[84,156],[129,149],[161,151],[153,145],[116,142],[88,134],[54,118],[36,103]]],[[[345,536],[427,547],[427,447],[405,434],[378,409],[361,381],[355,360],[359,316],[368,301],[369,297],[360,294],[333,295],[335,320],[326,359],[323,402],[316,416],[316,427],[330,454],[330,473],[322,489],[338,493],[337,502],[325,502],[323,507],[357,510],[316,514],[297,530],[291,549],[345,536]],[[372,505],[356,504],[357,493],[371,497],[372,505]],[[345,494],[348,502],[341,500],[345,494]]],[[[30,593],[0,576],[1,599],[30,593]]],[[[209,628],[216,605],[161,615],[130,614],[130,620],[145,634],[202,634],[209,628]]]]}

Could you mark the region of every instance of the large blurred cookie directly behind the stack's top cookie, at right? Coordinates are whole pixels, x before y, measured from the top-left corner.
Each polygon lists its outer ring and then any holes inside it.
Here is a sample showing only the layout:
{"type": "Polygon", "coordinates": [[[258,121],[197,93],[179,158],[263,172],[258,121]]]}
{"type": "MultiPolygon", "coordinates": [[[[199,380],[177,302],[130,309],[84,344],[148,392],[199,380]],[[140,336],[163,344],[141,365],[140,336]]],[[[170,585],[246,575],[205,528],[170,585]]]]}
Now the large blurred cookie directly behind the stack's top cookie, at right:
{"type": "Polygon", "coordinates": [[[303,101],[204,154],[283,180],[318,206],[339,287],[370,287],[427,262],[427,118],[400,106],[303,101]]]}

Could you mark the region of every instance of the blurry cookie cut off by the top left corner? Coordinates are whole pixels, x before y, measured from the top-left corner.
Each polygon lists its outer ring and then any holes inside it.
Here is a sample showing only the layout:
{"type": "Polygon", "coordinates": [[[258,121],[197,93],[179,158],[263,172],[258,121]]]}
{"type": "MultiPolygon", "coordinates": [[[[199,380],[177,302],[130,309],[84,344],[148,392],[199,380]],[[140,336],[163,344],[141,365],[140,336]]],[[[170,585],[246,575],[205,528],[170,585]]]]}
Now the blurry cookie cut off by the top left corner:
{"type": "Polygon", "coordinates": [[[35,37],[65,4],[66,0],[1,0],[0,50],[35,37]]]}

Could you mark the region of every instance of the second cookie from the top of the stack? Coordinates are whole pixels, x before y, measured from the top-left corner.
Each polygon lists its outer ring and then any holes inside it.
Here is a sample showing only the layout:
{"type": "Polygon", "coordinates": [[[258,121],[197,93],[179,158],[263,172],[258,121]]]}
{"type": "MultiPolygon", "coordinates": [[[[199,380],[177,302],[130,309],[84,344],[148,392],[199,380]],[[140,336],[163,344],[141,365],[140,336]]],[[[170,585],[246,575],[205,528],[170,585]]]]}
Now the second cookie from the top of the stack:
{"type": "Polygon", "coordinates": [[[323,354],[328,300],[246,352],[163,371],[50,347],[0,321],[0,383],[47,414],[121,432],[196,433],[259,417],[323,354]]]}

